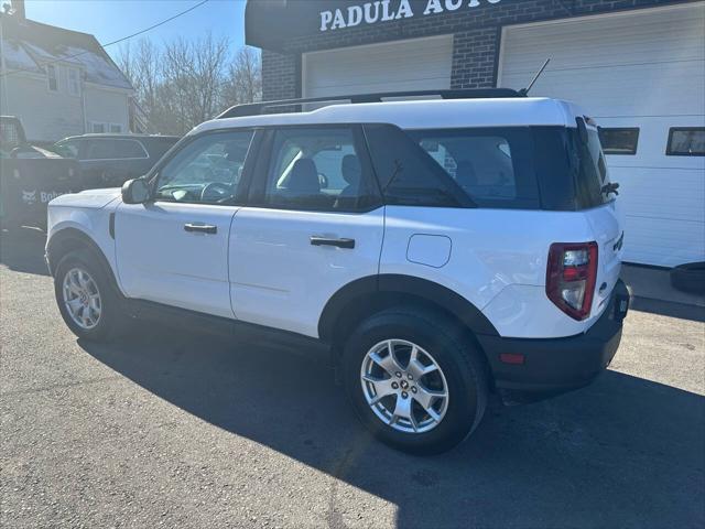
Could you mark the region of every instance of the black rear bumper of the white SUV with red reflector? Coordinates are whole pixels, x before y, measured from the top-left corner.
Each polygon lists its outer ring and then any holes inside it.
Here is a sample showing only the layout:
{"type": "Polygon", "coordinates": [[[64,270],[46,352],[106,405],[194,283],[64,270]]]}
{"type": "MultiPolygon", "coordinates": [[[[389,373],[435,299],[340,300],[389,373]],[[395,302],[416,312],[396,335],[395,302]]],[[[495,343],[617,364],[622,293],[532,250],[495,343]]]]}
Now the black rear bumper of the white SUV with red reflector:
{"type": "Polygon", "coordinates": [[[584,334],[566,338],[527,339],[478,336],[502,392],[533,400],[590,384],[603,373],[619,347],[622,321],[629,310],[629,291],[620,280],[609,305],[584,334]],[[523,364],[506,364],[500,355],[523,355],[523,364]]]}

